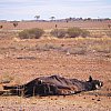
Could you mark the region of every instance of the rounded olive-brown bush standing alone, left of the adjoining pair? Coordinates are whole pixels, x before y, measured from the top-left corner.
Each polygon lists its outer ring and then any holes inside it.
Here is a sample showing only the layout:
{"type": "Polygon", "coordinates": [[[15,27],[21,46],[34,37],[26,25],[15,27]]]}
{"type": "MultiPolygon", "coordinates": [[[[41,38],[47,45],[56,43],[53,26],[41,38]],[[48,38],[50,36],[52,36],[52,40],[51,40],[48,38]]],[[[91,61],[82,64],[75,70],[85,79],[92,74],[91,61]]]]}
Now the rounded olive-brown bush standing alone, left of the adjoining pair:
{"type": "Polygon", "coordinates": [[[33,28],[29,30],[23,30],[19,33],[20,39],[39,39],[44,31],[42,29],[33,28]]]}

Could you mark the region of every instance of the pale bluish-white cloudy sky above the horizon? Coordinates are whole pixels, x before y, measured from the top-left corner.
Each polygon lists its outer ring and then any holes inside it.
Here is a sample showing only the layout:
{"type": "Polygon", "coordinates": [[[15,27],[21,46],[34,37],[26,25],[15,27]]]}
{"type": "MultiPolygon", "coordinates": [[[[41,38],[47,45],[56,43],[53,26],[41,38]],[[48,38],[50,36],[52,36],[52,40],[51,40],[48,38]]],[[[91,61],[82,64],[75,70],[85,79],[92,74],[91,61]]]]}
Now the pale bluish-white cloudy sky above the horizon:
{"type": "Polygon", "coordinates": [[[111,0],[0,0],[0,20],[111,18],[111,0]]]}

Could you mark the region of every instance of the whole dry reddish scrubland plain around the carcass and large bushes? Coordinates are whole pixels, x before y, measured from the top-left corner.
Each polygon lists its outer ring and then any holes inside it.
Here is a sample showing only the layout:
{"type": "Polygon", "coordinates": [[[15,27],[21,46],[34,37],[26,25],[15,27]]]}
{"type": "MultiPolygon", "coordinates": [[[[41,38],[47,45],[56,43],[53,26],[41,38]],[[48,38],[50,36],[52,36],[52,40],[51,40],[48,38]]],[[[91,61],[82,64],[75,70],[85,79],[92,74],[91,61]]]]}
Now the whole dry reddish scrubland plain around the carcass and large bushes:
{"type": "Polygon", "coordinates": [[[111,111],[111,38],[107,32],[111,21],[19,22],[13,28],[2,22],[0,29],[0,90],[2,84],[22,84],[40,75],[60,74],[103,81],[99,91],[68,97],[0,97],[1,111],[111,111]],[[80,27],[91,32],[89,38],[57,39],[50,36],[58,28],[80,27]],[[41,39],[18,38],[23,29],[42,28],[41,39]]]}

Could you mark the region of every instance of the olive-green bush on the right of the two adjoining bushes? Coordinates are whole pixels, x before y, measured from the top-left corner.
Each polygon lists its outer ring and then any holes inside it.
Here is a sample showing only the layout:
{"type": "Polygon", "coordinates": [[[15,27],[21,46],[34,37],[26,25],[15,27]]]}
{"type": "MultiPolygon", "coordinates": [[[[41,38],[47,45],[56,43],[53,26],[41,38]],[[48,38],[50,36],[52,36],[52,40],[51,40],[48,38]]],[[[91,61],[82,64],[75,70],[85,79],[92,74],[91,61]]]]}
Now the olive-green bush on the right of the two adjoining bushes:
{"type": "Polygon", "coordinates": [[[74,28],[68,29],[68,36],[70,38],[75,38],[80,36],[84,38],[89,36],[89,31],[74,27],[74,28]]]}

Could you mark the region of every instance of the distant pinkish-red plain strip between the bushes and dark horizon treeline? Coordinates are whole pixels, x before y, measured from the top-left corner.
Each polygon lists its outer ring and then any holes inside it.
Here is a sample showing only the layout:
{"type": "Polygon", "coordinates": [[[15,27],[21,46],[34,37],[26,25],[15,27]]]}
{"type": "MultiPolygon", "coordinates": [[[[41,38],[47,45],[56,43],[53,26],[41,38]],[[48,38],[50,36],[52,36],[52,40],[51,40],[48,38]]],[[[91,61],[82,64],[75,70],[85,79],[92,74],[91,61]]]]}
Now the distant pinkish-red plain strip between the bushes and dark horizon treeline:
{"type": "Polygon", "coordinates": [[[72,27],[80,27],[80,28],[87,28],[87,29],[107,29],[108,24],[111,23],[111,20],[108,21],[71,21],[71,22],[39,22],[39,21],[33,21],[33,22],[18,22],[18,26],[14,28],[13,22],[0,22],[0,24],[3,26],[2,29],[30,29],[30,28],[41,28],[44,30],[48,29],[53,29],[56,28],[72,28],[72,27]]]}

